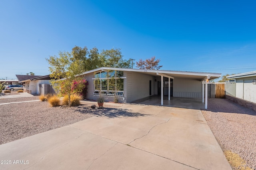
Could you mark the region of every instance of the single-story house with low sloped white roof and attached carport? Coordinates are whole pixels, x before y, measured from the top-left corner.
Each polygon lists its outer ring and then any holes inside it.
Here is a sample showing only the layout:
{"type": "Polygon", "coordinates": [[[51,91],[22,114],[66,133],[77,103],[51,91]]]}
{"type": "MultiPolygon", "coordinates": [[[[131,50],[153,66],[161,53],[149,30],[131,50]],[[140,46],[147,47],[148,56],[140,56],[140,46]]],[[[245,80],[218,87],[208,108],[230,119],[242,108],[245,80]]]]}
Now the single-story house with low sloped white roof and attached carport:
{"type": "Polygon", "coordinates": [[[152,95],[180,98],[202,98],[207,109],[208,80],[219,78],[220,73],[186,72],[170,70],[143,70],[134,68],[101,67],[86,71],[83,76],[88,81],[87,99],[97,100],[99,95],[113,101],[117,96],[120,101],[133,102],[152,95]]]}

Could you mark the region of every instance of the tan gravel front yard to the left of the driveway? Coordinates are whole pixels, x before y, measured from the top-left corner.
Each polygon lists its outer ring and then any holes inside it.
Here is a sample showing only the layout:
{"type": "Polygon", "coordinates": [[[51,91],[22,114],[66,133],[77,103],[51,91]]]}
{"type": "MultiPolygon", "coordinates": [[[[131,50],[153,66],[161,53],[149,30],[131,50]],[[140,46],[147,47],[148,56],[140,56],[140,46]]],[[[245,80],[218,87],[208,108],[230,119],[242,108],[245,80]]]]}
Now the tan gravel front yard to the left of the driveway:
{"type": "MultiPolygon", "coordinates": [[[[38,96],[0,99],[0,103],[38,100],[38,96]]],[[[104,109],[91,109],[82,102],[78,107],[50,107],[48,102],[24,102],[0,105],[0,145],[38,133],[76,123],[92,116],[117,113],[118,106],[104,104],[104,109]]]]}

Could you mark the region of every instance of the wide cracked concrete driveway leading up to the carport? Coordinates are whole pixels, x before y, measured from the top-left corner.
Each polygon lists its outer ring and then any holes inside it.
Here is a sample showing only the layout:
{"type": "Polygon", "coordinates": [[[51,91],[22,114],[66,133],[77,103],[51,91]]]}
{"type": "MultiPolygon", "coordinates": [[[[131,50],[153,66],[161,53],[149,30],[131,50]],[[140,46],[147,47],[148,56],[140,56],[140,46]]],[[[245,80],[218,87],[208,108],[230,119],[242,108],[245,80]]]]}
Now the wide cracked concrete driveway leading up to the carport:
{"type": "Polygon", "coordinates": [[[0,145],[0,153],[10,163],[0,169],[10,170],[231,170],[200,110],[140,104],[0,145]]]}

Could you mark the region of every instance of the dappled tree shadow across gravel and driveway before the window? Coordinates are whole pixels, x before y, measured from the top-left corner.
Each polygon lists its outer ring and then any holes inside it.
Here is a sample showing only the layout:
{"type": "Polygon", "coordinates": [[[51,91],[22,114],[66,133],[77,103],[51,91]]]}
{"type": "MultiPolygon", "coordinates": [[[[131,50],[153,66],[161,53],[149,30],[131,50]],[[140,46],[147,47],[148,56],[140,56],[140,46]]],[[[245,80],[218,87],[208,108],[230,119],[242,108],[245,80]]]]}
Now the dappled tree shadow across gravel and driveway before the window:
{"type": "Polygon", "coordinates": [[[142,114],[138,112],[132,112],[129,109],[121,109],[121,108],[108,108],[104,107],[103,109],[92,109],[90,106],[86,104],[82,104],[75,108],[76,111],[82,114],[92,114],[95,116],[101,117],[141,117],[141,116],[149,116],[150,114],[142,114]]]}

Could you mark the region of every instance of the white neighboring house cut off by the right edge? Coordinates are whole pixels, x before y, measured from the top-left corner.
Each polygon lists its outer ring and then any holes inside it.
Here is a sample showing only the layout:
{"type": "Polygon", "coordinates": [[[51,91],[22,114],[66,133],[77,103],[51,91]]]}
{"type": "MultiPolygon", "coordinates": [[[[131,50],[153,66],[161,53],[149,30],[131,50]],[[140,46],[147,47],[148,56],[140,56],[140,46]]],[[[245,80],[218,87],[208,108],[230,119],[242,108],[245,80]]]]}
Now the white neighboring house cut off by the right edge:
{"type": "Polygon", "coordinates": [[[227,76],[236,80],[235,97],[256,103],[256,71],[227,76]]]}

